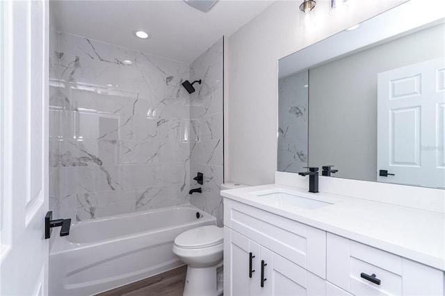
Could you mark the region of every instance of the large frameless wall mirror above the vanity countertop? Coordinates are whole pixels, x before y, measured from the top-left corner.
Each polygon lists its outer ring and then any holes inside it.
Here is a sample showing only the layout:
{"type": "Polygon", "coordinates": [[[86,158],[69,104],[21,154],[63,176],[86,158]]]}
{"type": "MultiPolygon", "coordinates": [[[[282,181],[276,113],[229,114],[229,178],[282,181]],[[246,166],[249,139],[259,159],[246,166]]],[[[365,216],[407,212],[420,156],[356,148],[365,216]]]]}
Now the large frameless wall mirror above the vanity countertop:
{"type": "Polygon", "coordinates": [[[277,170],[445,188],[445,15],[412,6],[279,61],[277,170]]]}

